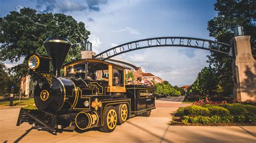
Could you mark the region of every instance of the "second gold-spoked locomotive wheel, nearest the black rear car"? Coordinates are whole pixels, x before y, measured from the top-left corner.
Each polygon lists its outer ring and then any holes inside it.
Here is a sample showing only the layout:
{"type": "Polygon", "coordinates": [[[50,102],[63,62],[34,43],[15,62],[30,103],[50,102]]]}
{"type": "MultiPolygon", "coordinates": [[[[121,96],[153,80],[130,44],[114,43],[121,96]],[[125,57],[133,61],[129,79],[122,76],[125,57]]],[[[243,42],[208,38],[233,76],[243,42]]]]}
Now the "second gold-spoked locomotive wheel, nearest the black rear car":
{"type": "Polygon", "coordinates": [[[123,124],[128,117],[128,108],[126,104],[120,104],[116,106],[117,111],[117,124],[123,124]]]}

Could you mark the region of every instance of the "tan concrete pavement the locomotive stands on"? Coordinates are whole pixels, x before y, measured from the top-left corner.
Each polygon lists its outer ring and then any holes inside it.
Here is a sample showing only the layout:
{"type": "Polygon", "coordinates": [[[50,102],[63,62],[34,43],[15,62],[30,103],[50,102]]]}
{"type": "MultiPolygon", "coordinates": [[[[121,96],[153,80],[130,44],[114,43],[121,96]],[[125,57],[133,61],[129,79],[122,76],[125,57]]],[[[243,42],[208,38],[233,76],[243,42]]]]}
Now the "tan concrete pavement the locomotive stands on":
{"type": "Polygon", "coordinates": [[[256,135],[255,126],[169,126],[173,112],[186,105],[158,100],[151,117],[131,118],[111,133],[90,130],[57,135],[32,129],[26,123],[16,126],[19,108],[0,108],[0,142],[256,142],[252,135],[256,135]]]}

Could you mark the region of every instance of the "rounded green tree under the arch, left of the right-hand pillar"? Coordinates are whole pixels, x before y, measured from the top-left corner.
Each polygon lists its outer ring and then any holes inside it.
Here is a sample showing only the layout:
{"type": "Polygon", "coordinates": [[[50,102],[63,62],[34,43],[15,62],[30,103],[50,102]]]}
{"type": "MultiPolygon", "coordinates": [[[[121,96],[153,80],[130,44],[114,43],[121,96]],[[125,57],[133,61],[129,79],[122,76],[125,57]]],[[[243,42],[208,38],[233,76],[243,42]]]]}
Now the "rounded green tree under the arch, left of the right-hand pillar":
{"type": "Polygon", "coordinates": [[[192,94],[213,95],[218,89],[218,78],[211,67],[204,67],[191,85],[189,90],[192,94]]]}

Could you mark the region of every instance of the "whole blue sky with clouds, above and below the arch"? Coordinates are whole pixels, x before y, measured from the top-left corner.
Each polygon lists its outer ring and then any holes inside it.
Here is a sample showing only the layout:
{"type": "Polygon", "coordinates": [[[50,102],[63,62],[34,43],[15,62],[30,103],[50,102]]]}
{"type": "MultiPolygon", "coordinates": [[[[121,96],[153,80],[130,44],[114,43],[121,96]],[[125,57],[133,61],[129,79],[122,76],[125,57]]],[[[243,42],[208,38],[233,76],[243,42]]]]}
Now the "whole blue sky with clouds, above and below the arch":
{"type": "MultiPolygon", "coordinates": [[[[180,36],[213,39],[207,22],[217,15],[215,1],[0,1],[0,16],[30,7],[38,12],[64,13],[84,22],[91,32],[93,51],[102,52],[125,42],[144,38],[180,36]]],[[[117,56],[129,61],[172,85],[192,84],[198,72],[207,66],[208,51],[193,48],[158,47],[117,56]]],[[[22,62],[22,61],[20,61],[22,62]]],[[[17,63],[5,61],[7,66],[17,63]]]]}

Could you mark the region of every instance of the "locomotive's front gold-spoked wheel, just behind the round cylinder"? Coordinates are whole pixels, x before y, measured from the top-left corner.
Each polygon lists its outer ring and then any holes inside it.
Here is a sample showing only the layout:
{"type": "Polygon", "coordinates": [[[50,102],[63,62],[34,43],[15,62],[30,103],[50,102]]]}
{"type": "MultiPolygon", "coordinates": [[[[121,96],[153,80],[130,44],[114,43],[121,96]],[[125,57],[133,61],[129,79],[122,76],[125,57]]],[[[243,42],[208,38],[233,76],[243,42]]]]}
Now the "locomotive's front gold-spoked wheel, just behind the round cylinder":
{"type": "Polygon", "coordinates": [[[99,128],[100,131],[110,133],[117,126],[117,112],[113,106],[107,106],[104,111],[104,125],[99,128]]]}

